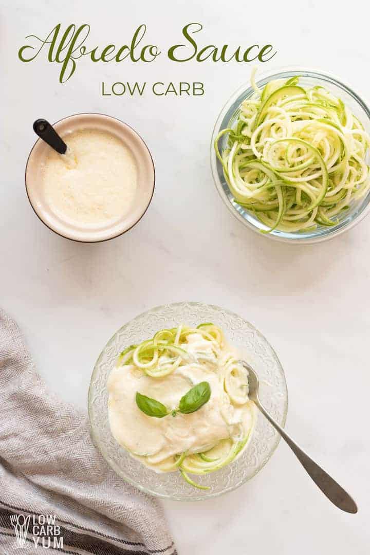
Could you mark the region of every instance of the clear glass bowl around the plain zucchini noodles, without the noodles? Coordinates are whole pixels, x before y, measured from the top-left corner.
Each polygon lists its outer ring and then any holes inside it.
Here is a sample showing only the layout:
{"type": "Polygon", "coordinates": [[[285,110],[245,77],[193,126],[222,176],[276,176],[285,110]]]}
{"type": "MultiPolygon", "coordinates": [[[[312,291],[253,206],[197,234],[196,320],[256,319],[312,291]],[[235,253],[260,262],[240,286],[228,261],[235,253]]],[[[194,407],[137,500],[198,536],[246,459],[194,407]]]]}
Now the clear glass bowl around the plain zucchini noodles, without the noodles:
{"type": "MultiPolygon", "coordinates": [[[[330,73],[322,72],[317,69],[308,69],[301,67],[290,67],[282,68],[280,70],[270,70],[270,72],[262,73],[259,75],[259,80],[257,80],[257,85],[263,87],[268,81],[272,79],[289,79],[295,75],[300,75],[300,85],[303,88],[313,87],[315,85],[322,85],[323,87],[330,90],[338,98],[341,98],[344,104],[352,110],[353,114],[359,119],[363,124],[364,128],[368,133],[370,133],[370,109],[368,104],[355,93],[349,85],[341,82],[337,77],[330,73]]],[[[211,142],[211,169],[213,178],[217,191],[221,196],[221,199],[226,204],[227,208],[231,211],[238,220],[240,220],[247,228],[260,233],[261,230],[266,230],[266,226],[263,225],[259,219],[249,210],[245,209],[243,206],[238,204],[227,185],[224,172],[219,160],[216,157],[214,142],[217,135],[229,127],[234,127],[236,119],[240,112],[240,104],[243,100],[250,97],[254,92],[249,84],[244,84],[240,87],[227,101],[224,108],[222,108],[219,117],[217,118],[214,132],[212,135],[211,142]]],[[[225,149],[227,142],[227,134],[223,135],[219,141],[220,152],[225,149]]],[[[289,243],[318,243],[319,241],[325,241],[326,239],[331,239],[336,235],[343,233],[348,229],[351,229],[355,224],[366,216],[370,210],[370,191],[364,196],[364,198],[359,199],[356,203],[351,204],[346,211],[343,211],[339,216],[339,222],[337,225],[333,225],[330,228],[326,226],[318,226],[314,230],[310,231],[300,231],[300,232],[287,232],[274,230],[271,233],[263,233],[265,237],[271,239],[276,239],[280,241],[285,241],[289,243]]]]}

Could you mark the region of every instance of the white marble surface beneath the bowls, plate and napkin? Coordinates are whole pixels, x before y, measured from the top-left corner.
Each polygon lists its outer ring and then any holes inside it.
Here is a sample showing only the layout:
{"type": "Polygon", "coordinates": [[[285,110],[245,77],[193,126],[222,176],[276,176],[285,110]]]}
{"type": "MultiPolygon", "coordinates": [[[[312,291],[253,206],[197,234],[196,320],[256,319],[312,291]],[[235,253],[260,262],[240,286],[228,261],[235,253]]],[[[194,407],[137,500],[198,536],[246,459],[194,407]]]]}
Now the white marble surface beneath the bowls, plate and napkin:
{"type": "Polygon", "coordinates": [[[100,347],[139,312],[179,300],[239,312],[262,330],[285,368],[288,431],[348,488],[359,513],[333,507],[280,445],[239,491],[203,503],[165,503],[180,555],[231,548],[367,555],[370,219],[327,244],[292,248],[251,234],[226,210],[210,175],[210,135],[250,65],[175,64],[165,56],[147,65],[81,62],[60,85],[55,64],[17,59],[27,34],[45,34],[59,21],[89,22],[95,44],[125,42],[145,22],[148,38],[163,48],[178,42],[184,24],[200,21],[204,44],[271,42],[278,53],[263,68],[321,67],[370,96],[365,2],[353,0],[349,12],[328,1],[199,4],[111,1],[99,11],[92,2],[34,0],[32,9],[5,3],[1,304],[21,325],[50,387],[82,407],[100,347]],[[102,80],[203,81],[206,94],[103,98],[102,80]],[[133,125],[153,153],[157,180],[139,225],[109,243],[84,245],[39,222],[24,191],[24,165],[36,117],[55,121],[88,111],[133,125]]]}

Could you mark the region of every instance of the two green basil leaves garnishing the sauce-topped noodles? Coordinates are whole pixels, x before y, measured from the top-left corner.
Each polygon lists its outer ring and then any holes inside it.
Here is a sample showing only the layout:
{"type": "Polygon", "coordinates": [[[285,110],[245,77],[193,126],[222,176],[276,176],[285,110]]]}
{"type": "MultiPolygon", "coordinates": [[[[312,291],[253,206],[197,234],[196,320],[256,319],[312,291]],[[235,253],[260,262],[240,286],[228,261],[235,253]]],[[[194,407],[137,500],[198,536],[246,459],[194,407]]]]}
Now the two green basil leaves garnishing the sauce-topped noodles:
{"type": "Polygon", "coordinates": [[[210,396],[211,388],[209,383],[200,382],[200,384],[192,387],[183,397],[181,397],[179,407],[174,410],[168,410],[163,403],[156,401],[151,397],[146,397],[146,395],[141,395],[139,392],[136,392],[136,405],[138,405],[141,412],[144,412],[148,416],[163,418],[169,414],[176,416],[176,412],[181,412],[182,414],[195,412],[200,407],[205,405],[210,396]]]}

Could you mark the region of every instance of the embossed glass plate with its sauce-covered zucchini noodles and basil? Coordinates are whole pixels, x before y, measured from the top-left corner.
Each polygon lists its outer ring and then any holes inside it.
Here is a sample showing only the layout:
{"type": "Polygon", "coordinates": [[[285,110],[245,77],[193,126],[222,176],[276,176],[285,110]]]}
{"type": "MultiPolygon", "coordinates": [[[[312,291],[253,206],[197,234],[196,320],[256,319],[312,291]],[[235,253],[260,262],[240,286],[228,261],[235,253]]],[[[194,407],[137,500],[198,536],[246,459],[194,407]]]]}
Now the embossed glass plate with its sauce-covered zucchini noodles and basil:
{"type": "Polygon", "coordinates": [[[125,480],[161,497],[230,491],[267,462],[278,437],[248,397],[251,362],[283,425],[285,377],[249,322],[196,302],[157,307],[123,326],[95,365],[89,416],[95,444],[125,480]]]}

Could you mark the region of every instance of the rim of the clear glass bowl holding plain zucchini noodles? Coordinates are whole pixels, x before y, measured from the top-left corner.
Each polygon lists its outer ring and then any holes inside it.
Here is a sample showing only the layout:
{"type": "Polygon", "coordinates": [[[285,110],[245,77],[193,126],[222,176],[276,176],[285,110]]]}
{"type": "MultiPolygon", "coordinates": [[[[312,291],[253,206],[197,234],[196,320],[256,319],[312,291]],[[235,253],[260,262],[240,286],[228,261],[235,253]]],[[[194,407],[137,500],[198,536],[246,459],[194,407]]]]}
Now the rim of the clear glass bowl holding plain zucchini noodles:
{"type": "MultiPolygon", "coordinates": [[[[354,101],[364,110],[366,113],[368,122],[370,124],[370,102],[366,96],[362,93],[354,92],[352,87],[347,83],[340,79],[336,74],[327,72],[322,69],[312,68],[312,67],[305,67],[301,65],[287,65],[284,67],[275,67],[266,70],[265,72],[261,72],[257,75],[256,83],[257,85],[261,83],[265,79],[280,79],[284,77],[292,77],[293,74],[302,73],[303,77],[311,77],[313,79],[321,79],[326,80],[328,83],[334,84],[337,87],[344,90],[347,94],[349,94],[354,101]]],[[[250,81],[243,83],[239,88],[235,90],[234,93],[231,94],[229,99],[225,102],[219,115],[217,116],[216,123],[213,128],[212,138],[211,138],[211,172],[212,177],[217,189],[217,193],[219,193],[222,201],[226,205],[227,209],[239,220],[242,224],[246,226],[246,228],[254,231],[260,236],[265,236],[267,239],[272,239],[274,241],[280,241],[283,243],[289,243],[291,245],[307,245],[313,243],[322,243],[322,241],[327,241],[334,239],[338,235],[344,233],[344,231],[348,231],[352,229],[355,225],[357,225],[370,211],[370,192],[363,198],[362,203],[359,204],[359,211],[351,221],[348,221],[346,224],[342,225],[341,228],[336,229],[336,226],[333,228],[327,228],[326,233],[323,233],[321,236],[302,236],[302,237],[290,237],[287,232],[286,236],[275,235],[271,233],[261,233],[260,229],[257,228],[254,224],[252,224],[247,219],[243,218],[242,215],[235,209],[235,207],[231,204],[230,199],[227,197],[224,188],[222,187],[222,183],[219,177],[219,173],[217,171],[217,166],[219,164],[219,160],[216,157],[215,149],[214,149],[214,142],[217,137],[217,134],[220,132],[221,124],[224,122],[226,115],[231,112],[235,112],[237,109],[237,105],[240,104],[240,97],[244,95],[249,89],[252,92],[252,87],[250,81]]],[[[230,114],[229,114],[230,115],[230,114]]]]}

